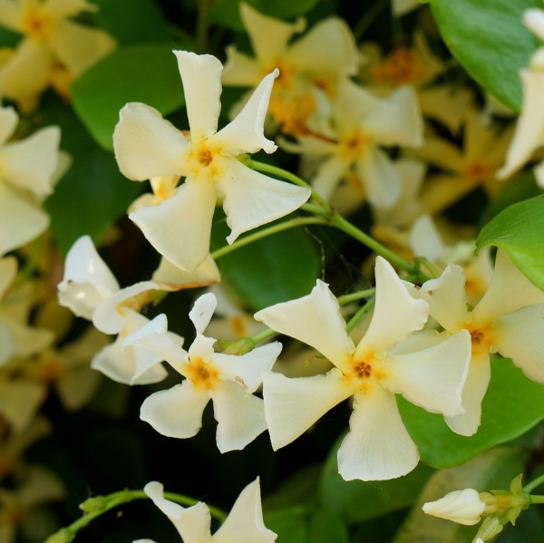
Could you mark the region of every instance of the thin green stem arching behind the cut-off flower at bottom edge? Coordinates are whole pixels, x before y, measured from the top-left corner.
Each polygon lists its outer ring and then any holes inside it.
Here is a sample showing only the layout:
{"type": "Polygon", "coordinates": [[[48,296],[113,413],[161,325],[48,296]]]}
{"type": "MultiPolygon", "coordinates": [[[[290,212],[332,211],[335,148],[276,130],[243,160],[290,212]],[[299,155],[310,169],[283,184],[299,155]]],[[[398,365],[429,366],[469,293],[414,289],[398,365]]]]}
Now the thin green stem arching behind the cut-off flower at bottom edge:
{"type": "MultiPolygon", "coordinates": [[[[110,509],[116,508],[123,503],[129,503],[134,499],[148,498],[149,496],[143,490],[121,490],[120,492],[113,492],[108,496],[97,496],[87,499],[80,507],[83,510],[87,509],[88,512],[85,512],[80,519],[74,520],[70,526],[61,528],[53,536],[47,538],[45,543],[69,543],[75,538],[80,529],[85,528],[93,519],[100,517],[110,509]]],[[[173,492],[165,492],[164,498],[187,506],[193,506],[199,502],[198,499],[189,498],[189,496],[184,496],[183,494],[174,494],[173,492]]],[[[220,522],[227,519],[227,514],[222,510],[210,506],[208,506],[208,509],[211,516],[220,522]]]]}

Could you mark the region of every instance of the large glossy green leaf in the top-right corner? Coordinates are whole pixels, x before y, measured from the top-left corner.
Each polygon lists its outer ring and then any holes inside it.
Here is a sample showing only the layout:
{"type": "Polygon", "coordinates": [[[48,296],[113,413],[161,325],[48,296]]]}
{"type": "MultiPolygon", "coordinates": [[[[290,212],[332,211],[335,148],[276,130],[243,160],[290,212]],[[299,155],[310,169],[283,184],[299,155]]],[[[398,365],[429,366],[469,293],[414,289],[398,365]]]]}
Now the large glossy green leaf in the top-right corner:
{"type": "Polygon", "coordinates": [[[468,73],[514,111],[520,111],[520,68],[527,66],[537,40],[521,23],[540,0],[432,0],[442,38],[468,73]]]}

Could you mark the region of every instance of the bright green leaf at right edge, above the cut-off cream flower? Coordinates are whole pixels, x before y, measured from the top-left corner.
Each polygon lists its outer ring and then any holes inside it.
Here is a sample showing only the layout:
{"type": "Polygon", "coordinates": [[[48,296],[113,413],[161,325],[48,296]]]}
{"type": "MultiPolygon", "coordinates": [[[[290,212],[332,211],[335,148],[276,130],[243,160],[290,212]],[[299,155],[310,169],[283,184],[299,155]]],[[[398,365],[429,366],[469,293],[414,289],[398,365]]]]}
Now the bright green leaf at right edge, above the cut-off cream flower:
{"type": "Polygon", "coordinates": [[[507,251],[513,263],[544,290],[544,195],[527,199],[500,212],[481,228],[476,249],[495,245],[507,251]]]}

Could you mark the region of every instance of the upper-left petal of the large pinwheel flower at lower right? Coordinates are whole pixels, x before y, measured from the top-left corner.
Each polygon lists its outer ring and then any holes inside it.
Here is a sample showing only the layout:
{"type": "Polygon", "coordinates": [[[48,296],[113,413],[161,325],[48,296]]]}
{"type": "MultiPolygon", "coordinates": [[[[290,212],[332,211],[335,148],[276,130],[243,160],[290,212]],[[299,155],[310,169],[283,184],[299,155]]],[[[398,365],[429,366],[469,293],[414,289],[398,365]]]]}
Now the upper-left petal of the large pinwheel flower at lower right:
{"type": "Polygon", "coordinates": [[[354,352],[340,305],[319,279],[308,296],[262,309],[255,318],[280,334],[315,347],[333,364],[342,364],[354,352]]]}

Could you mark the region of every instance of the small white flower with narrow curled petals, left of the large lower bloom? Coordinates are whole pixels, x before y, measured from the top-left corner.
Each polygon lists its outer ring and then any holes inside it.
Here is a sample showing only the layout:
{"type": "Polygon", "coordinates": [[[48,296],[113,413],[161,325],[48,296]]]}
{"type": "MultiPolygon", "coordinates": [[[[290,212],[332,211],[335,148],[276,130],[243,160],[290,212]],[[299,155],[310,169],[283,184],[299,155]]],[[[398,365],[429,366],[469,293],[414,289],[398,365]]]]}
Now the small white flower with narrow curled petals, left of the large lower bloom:
{"type": "Polygon", "coordinates": [[[263,401],[254,393],[281,351],[281,344],[266,344],[241,356],[215,353],[215,339],[203,335],[217,305],[211,294],[200,296],[189,313],[197,337],[184,351],[167,335],[165,315],[155,317],[123,345],[148,349],[185,377],[170,390],[151,394],[141,405],[141,420],[163,435],[189,438],[202,426],[202,413],[211,400],[218,422],[219,451],[243,449],[267,429],[263,401]]]}

